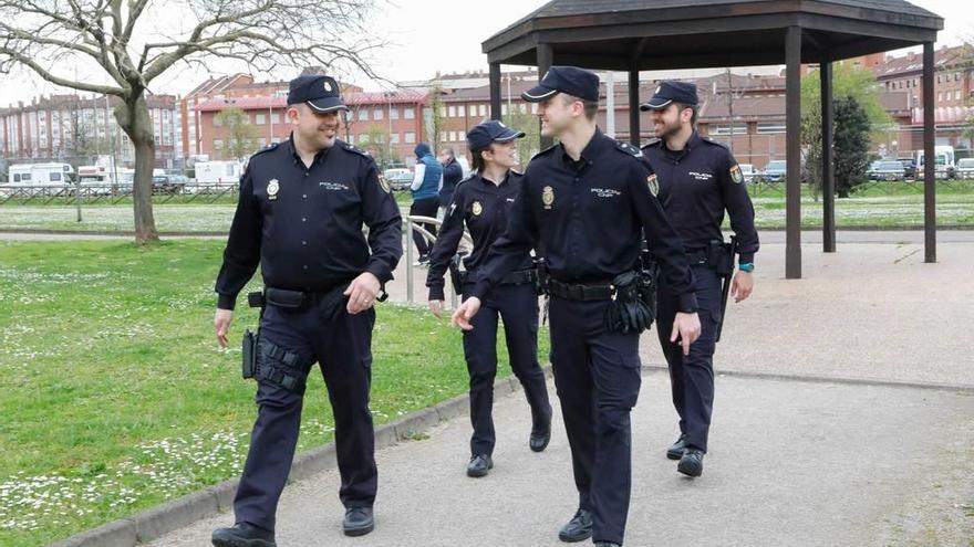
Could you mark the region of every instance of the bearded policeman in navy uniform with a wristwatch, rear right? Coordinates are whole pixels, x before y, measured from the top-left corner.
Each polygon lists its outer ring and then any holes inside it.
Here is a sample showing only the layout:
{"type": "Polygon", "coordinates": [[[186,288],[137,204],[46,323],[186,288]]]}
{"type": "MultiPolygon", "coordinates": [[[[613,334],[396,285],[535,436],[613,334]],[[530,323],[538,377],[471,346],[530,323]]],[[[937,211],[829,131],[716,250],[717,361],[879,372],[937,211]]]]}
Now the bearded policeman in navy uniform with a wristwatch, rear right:
{"type": "Polygon", "coordinates": [[[694,84],[663,82],[640,109],[653,113],[657,139],[643,147],[643,156],[656,173],[666,217],[683,238],[701,311],[701,337],[691,346],[690,354],[684,355],[669,341],[667,320],[678,309],[678,293],[674,294],[674,287],[661,283],[657,334],[670,366],[673,406],[680,414],[680,438],[666,451],[666,456],[680,460],[676,469],[681,473],[700,476],[714,403],[713,357],[722,322],[722,278],[729,275],[733,267],[733,257],[725,255],[722,244],[721,224],[726,210],[738,242],[738,270],[729,288],[740,302],[754,288],[752,272],[758,250],[754,207],[731,150],[702,138],[694,128],[697,116],[694,84]]]}

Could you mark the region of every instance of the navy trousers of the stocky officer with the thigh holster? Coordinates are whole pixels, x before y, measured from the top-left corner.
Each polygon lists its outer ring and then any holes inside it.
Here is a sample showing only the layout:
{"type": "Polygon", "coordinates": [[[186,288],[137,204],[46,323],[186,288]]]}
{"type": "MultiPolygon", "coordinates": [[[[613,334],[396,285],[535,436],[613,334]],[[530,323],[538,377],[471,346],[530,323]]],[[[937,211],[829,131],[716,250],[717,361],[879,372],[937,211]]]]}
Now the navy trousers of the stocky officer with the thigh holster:
{"type": "MultiPolygon", "coordinates": [[[[268,306],[260,322],[262,343],[270,341],[301,357],[302,362],[288,369],[288,374],[300,376],[302,381],[298,392],[267,380],[258,381],[257,422],[234,499],[238,523],[274,529],[278,499],[298,443],[303,383],[315,361],[321,366],[334,414],[342,480],[339,496],[345,507],[371,507],[375,501],[379,474],[369,409],[375,312],[350,315],[342,302],[341,311],[330,318],[331,312],[322,307],[317,304],[302,309],[268,306]]],[[[273,362],[273,366],[288,368],[282,362],[273,362]]]]}

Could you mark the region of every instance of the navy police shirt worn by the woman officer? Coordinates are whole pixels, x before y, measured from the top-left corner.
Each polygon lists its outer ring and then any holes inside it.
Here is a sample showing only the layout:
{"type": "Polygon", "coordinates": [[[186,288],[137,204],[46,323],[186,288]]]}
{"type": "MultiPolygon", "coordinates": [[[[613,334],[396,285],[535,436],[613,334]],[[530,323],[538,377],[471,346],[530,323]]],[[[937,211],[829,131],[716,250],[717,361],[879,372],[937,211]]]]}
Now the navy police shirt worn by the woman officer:
{"type": "MultiPolygon", "coordinates": [[[[475,272],[480,267],[490,245],[507,228],[509,212],[517,199],[522,179],[521,173],[508,170],[500,185],[495,185],[475,172],[457,186],[453,203],[446,210],[436,244],[429,256],[429,273],[426,277],[429,299],[444,298],[443,275],[446,273],[450,257],[456,253],[465,224],[474,240],[474,249],[470,255],[464,259],[464,266],[468,272],[475,272]]],[[[525,252],[516,270],[530,266],[531,259],[525,252]]]]}

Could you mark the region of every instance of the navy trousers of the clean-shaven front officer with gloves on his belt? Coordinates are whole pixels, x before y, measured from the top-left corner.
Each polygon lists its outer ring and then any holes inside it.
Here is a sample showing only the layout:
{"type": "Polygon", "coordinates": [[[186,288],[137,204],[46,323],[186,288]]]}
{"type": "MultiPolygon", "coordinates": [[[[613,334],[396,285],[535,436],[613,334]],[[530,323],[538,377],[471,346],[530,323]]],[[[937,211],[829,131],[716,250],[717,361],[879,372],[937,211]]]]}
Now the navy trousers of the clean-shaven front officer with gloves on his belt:
{"type": "Polygon", "coordinates": [[[639,335],[605,329],[609,301],[551,297],[551,365],[592,539],[622,544],[632,478],[630,411],[639,397],[639,335]]]}

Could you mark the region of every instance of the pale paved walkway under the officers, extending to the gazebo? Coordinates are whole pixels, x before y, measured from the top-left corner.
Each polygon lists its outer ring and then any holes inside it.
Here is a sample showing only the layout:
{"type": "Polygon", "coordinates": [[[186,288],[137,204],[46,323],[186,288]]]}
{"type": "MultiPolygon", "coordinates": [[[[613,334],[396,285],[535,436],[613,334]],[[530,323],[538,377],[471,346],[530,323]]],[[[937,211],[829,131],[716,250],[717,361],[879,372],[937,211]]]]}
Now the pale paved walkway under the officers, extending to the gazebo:
{"type": "MultiPolygon", "coordinates": [[[[626,545],[972,545],[974,236],[965,234],[942,240],[935,265],[922,263],[910,232],[840,236],[829,255],[809,244],[801,281],[783,280],[784,244],[765,236],[754,301],[732,305],[718,348],[726,374],[703,477],[683,477],[664,457],[676,432],[669,380],[643,378],[626,545]]],[[[644,365],[662,364],[654,334],[642,350],[644,365]]],[[[453,420],[379,451],[373,534],[341,535],[338,473],[327,471],[286,491],[279,545],[561,545],[577,495],[560,420],[541,454],[526,446],[520,393],[497,401],[495,420],[488,477],[464,475],[469,424],[453,420]]],[[[231,522],[208,518],[151,545],[207,545],[231,522]]]]}

